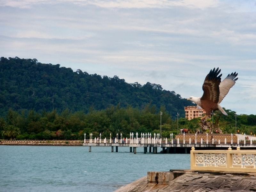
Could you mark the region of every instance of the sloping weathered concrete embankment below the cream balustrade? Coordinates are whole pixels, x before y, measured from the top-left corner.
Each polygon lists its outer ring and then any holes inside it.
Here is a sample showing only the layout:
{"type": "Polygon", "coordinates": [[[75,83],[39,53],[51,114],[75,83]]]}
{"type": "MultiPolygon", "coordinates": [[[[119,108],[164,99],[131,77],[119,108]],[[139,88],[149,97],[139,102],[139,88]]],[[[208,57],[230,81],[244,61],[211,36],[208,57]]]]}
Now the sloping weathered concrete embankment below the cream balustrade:
{"type": "Polygon", "coordinates": [[[116,192],[247,192],[256,191],[256,173],[170,170],[148,172],[116,192]]]}

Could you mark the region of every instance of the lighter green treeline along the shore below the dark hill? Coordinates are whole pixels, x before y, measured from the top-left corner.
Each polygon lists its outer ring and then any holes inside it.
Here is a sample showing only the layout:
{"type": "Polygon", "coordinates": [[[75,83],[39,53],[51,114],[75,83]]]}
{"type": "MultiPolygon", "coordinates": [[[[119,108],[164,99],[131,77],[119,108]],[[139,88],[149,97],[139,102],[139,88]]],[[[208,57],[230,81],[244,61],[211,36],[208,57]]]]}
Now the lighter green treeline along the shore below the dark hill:
{"type": "MultiPolygon", "coordinates": [[[[170,137],[170,133],[177,133],[177,119],[162,106],[162,137],[170,137]]],[[[256,115],[237,115],[237,129],[235,127],[235,112],[226,110],[228,116],[216,111],[214,124],[219,124],[223,133],[236,133],[237,130],[246,134],[256,133],[256,115]]],[[[179,130],[187,128],[190,133],[195,133],[199,126],[200,118],[188,121],[179,118],[179,130]]],[[[69,109],[58,113],[56,109],[47,112],[34,110],[14,111],[8,110],[4,118],[0,118],[0,132],[2,139],[35,139],[35,140],[83,140],[84,133],[89,139],[92,132],[93,138],[101,133],[102,138],[118,136],[130,137],[134,134],[160,132],[160,115],[155,106],[147,105],[143,109],[130,106],[122,108],[120,105],[103,110],[91,108],[88,113],[83,111],[71,112],[69,109]]]]}

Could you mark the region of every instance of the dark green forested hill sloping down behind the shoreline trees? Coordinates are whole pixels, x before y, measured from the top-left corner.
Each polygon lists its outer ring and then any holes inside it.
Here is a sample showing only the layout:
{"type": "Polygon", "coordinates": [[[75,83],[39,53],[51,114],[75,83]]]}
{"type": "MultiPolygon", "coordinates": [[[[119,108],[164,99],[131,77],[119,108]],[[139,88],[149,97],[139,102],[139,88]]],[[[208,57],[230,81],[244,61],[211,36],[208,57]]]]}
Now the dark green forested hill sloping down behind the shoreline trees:
{"type": "Polygon", "coordinates": [[[9,108],[51,111],[88,112],[90,108],[105,109],[111,105],[145,108],[156,106],[173,117],[177,111],[184,116],[184,106],[192,105],[174,91],[163,90],[159,84],[128,84],[118,76],[110,78],[81,70],[43,64],[36,59],[0,58],[0,116],[9,108]]]}

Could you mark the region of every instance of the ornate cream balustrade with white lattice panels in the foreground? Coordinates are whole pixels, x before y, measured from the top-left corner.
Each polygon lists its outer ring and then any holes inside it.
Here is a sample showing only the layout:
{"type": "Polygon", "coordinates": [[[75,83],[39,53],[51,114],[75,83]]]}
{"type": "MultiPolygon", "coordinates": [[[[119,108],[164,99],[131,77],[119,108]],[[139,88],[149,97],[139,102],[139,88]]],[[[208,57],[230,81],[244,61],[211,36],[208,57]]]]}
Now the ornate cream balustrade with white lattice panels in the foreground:
{"type": "Polygon", "coordinates": [[[190,151],[190,169],[204,171],[256,172],[256,150],[190,151]]]}

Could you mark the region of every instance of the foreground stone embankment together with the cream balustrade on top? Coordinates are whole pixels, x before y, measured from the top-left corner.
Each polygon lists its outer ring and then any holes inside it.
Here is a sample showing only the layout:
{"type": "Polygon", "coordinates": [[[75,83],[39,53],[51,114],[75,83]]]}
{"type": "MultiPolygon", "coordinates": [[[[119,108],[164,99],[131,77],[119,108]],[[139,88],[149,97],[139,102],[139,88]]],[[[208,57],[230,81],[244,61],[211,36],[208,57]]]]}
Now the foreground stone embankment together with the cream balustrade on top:
{"type": "Polygon", "coordinates": [[[191,148],[190,170],[148,172],[116,192],[245,192],[256,191],[256,151],[195,150],[191,148]]]}

